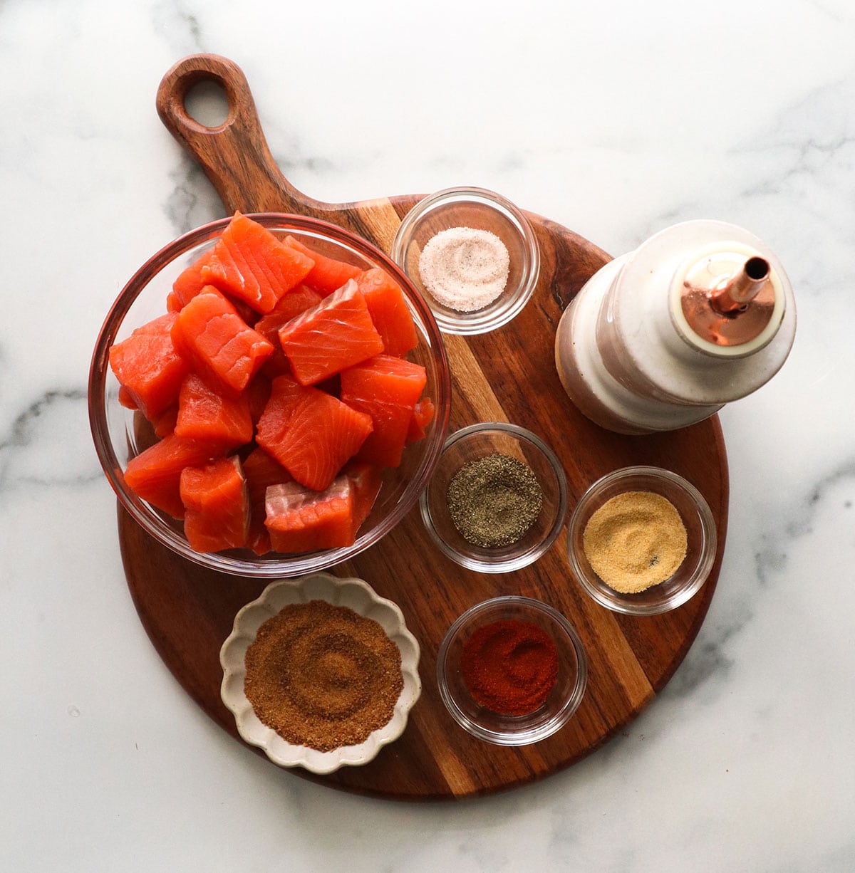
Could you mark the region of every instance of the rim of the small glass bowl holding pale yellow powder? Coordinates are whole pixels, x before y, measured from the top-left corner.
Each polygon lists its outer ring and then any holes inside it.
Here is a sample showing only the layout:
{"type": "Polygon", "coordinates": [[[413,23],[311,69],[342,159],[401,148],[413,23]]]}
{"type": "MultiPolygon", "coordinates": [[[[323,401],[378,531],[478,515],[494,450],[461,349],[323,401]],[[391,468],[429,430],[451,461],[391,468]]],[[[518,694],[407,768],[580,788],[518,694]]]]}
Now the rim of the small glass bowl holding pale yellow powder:
{"type": "Polygon", "coordinates": [[[665,612],[670,612],[690,601],[696,595],[700,588],[709,577],[710,570],[715,561],[715,555],[718,550],[716,542],[717,528],[713,512],[707,504],[707,499],[703,494],[692,485],[686,478],[683,478],[679,473],[667,470],[665,467],[656,467],[649,464],[637,464],[628,467],[621,467],[606,473],[604,476],[596,479],[584,491],[581,498],[576,501],[576,506],[573,512],[570,513],[567,523],[567,555],[570,563],[570,568],[576,581],[581,585],[583,590],[594,601],[601,606],[610,609],[612,612],[621,613],[622,615],[662,615],[665,612]],[[650,603],[640,603],[628,600],[632,595],[623,595],[619,591],[609,588],[604,582],[601,584],[603,588],[599,588],[596,583],[590,580],[589,574],[586,574],[576,555],[576,549],[573,547],[573,539],[576,530],[581,524],[581,519],[587,511],[591,502],[596,496],[603,491],[604,488],[624,481],[625,479],[647,476],[652,479],[668,482],[675,485],[681,491],[684,491],[692,500],[692,504],[698,513],[700,523],[700,533],[702,537],[702,547],[698,556],[698,562],[693,567],[692,574],[686,581],[672,593],[662,600],[653,601],[650,603]]]}

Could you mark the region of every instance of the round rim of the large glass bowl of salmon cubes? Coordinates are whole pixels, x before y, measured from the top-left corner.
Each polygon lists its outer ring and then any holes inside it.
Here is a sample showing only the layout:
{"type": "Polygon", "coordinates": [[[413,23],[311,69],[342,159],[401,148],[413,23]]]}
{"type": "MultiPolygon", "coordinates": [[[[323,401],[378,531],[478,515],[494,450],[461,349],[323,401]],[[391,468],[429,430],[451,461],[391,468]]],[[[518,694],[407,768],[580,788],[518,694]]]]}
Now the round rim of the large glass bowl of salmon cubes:
{"type": "Polygon", "coordinates": [[[361,553],[369,546],[373,546],[376,542],[383,539],[383,536],[389,533],[410,511],[413,505],[417,503],[421,491],[424,491],[424,487],[430,481],[431,474],[439,462],[439,457],[445,444],[445,434],[448,430],[451,413],[451,370],[445,351],[445,341],[434,319],[431,307],[427,305],[423,295],[413,285],[406,272],[396,265],[385,252],[377,248],[376,245],[370,243],[364,237],[359,237],[351,230],[346,230],[337,224],[324,221],[321,218],[300,216],[289,212],[245,212],[243,214],[273,230],[303,230],[308,233],[318,234],[321,237],[328,237],[332,242],[352,249],[362,258],[373,261],[377,265],[382,266],[387,272],[390,272],[399,283],[403,284],[407,298],[415,308],[418,317],[422,320],[425,332],[428,335],[431,356],[436,359],[437,396],[436,398],[431,398],[436,409],[434,427],[437,429],[432,437],[433,442],[426,446],[425,456],[422,459],[419,471],[417,471],[418,475],[411,478],[404,489],[404,491],[411,489],[410,496],[404,500],[402,495],[402,499],[392,508],[389,515],[383,518],[372,530],[363,533],[362,537],[357,538],[351,546],[307,553],[304,557],[297,555],[285,560],[269,560],[264,563],[235,558],[221,553],[194,552],[181,535],[176,533],[155,512],[148,509],[148,506],[143,504],[139,498],[136,498],[135,495],[130,495],[124,484],[124,478],[121,475],[121,464],[115,454],[107,427],[107,416],[104,414],[107,400],[108,353],[131,306],[134,305],[135,300],[151,280],[155,278],[157,273],[185,251],[189,251],[197,244],[202,244],[219,236],[222,230],[231,222],[232,217],[217,218],[214,221],[204,223],[163,245],[161,249],[150,256],[133,273],[128,282],[122,287],[118,296],[114,299],[113,305],[107,311],[107,316],[100,327],[98,338],[95,340],[87,382],[89,427],[93,436],[95,451],[101,467],[107,476],[107,481],[113,488],[117,498],[119,498],[121,505],[128,511],[134,521],[149,535],[153,536],[155,540],[169,547],[183,558],[221,573],[249,576],[256,579],[278,579],[284,576],[297,576],[333,567],[344,560],[353,558],[356,554],[361,553]]]}

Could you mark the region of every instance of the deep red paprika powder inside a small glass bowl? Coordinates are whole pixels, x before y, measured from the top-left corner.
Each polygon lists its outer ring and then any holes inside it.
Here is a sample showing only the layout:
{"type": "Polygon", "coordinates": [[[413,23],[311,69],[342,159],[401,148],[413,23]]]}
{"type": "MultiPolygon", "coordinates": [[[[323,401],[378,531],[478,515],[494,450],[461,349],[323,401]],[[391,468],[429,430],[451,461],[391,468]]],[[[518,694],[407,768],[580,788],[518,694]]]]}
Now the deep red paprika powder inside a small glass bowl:
{"type": "Polygon", "coordinates": [[[558,650],[532,622],[503,619],[463,644],[460,672],[473,698],[501,715],[527,715],[548,698],[558,677],[558,650]]]}

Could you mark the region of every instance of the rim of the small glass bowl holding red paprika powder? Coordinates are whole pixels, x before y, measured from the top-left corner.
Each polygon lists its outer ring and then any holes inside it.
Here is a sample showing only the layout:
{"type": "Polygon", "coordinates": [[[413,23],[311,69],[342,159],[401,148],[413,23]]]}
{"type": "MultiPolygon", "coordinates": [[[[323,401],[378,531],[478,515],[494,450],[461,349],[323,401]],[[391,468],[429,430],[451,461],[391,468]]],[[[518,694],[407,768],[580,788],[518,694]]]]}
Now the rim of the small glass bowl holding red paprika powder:
{"type": "Polygon", "coordinates": [[[439,696],[442,698],[446,710],[455,722],[464,728],[465,731],[471,733],[472,736],[484,739],[496,746],[526,746],[552,736],[552,734],[566,725],[576,713],[588,686],[588,656],[576,628],[569,622],[567,616],[563,615],[558,609],[544,601],[527,595],[499,595],[491,597],[486,601],[480,601],[465,609],[445,632],[437,652],[437,684],[439,696]],[[552,622],[561,629],[562,634],[566,636],[567,642],[576,656],[576,680],[569,697],[548,721],[522,732],[491,730],[473,722],[457,705],[445,679],[448,653],[460,632],[473,618],[485,613],[498,611],[505,607],[519,607],[523,610],[534,609],[541,613],[541,615],[545,615],[549,622],[552,622]]]}

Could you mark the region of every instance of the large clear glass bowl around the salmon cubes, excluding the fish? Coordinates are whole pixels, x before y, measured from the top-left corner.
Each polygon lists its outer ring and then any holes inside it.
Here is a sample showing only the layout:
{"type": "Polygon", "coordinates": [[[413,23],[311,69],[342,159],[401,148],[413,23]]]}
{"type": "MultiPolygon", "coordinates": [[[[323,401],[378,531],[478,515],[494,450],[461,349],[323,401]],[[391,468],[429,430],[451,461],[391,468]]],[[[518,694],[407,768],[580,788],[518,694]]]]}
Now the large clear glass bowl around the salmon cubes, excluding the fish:
{"type": "Polygon", "coordinates": [[[355,234],[314,218],[278,213],[251,215],[279,237],[291,234],[321,254],[369,269],[383,267],[403,288],[417,329],[418,345],[408,357],[422,364],[427,373],[425,395],[431,397],[436,413],[424,436],[411,443],[396,470],[383,474],[383,487],[369,518],[352,546],[322,552],[257,556],[248,549],[219,553],[198,553],[190,548],[181,522],[138,498],[125,485],[122,471],[128,460],[151,442],[148,423],[119,402],[119,383],[109,367],[108,355],[114,342],[124,340],[136,327],[166,312],[167,294],[183,269],[210,249],[231,220],[223,218],[191,230],[169,243],[134,273],[128,285],[107,313],[95,345],[89,372],[89,422],[95,449],[107,479],[121,504],[133,518],[163,545],[183,557],[224,573],[276,579],[332,567],[354,557],[390,532],[415,505],[431,478],[448,429],[451,378],[445,345],[436,321],[410,279],[382,251],[355,234]]]}

